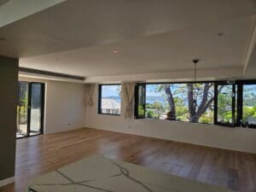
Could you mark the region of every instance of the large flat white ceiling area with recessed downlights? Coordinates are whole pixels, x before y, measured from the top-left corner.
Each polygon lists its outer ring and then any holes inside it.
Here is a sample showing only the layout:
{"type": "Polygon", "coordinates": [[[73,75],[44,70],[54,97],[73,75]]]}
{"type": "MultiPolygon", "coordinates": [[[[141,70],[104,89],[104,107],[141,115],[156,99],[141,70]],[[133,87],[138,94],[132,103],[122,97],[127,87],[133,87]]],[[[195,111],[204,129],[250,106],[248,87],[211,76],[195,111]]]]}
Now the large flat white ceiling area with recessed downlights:
{"type": "Polygon", "coordinates": [[[86,77],[242,68],[255,15],[254,0],[67,0],[1,27],[0,55],[86,77]]]}

